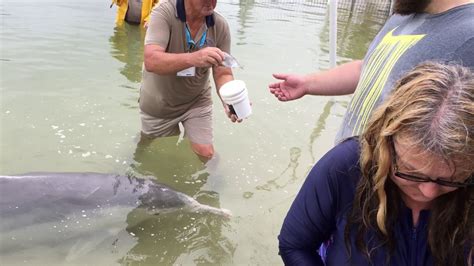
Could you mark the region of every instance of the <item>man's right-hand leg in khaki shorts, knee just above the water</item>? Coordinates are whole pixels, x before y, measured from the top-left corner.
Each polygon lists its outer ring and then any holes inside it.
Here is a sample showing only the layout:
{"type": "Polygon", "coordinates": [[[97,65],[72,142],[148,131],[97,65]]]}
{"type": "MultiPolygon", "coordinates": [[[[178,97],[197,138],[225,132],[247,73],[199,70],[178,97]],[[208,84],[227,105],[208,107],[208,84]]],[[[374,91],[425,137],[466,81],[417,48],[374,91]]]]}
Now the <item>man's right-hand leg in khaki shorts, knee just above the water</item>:
{"type": "Polygon", "coordinates": [[[184,135],[191,141],[193,151],[204,160],[214,155],[212,144],[212,105],[189,110],[183,120],[184,135]]]}

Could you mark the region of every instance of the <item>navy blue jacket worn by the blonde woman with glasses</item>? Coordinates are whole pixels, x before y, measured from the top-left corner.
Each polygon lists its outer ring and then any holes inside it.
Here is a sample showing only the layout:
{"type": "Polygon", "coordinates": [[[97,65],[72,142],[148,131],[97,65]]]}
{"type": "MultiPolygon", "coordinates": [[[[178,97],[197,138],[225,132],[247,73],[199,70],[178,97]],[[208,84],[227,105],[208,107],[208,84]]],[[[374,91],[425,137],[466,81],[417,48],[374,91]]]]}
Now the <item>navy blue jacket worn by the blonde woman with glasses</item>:
{"type": "MultiPolygon", "coordinates": [[[[344,242],[346,215],[361,175],[359,155],[359,142],[350,139],[329,151],[311,170],[278,237],[280,255],[286,265],[324,265],[317,249],[331,236],[326,265],[369,265],[356,248],[354,235],[351,257],[344,242]]],[[[422,211],[414,227],[411,210],[401,207],[399,223],[394,228],[396,247],[389,265],[433,265],[427,241],[429,215],[429,211],[422,211]]],[[[369,249],[376,246],[375,241],[368,242],[369,249]]],[[[384,248],[375,249],[372,265],[386,265],[387,256],[384,248]]]]}

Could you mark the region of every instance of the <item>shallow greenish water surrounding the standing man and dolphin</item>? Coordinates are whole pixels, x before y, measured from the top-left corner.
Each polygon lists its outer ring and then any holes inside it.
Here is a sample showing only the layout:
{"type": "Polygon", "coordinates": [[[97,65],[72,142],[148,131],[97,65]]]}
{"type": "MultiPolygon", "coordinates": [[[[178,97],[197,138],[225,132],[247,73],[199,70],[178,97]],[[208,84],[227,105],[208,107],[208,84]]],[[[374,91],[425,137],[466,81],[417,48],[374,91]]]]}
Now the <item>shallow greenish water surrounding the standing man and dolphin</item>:
{"type": "MultiPolygon", "coordinates": [[[[354,3],[340,1],[339,62],[361,58],[387,16],[388,3],[354,3]]],[[[116,28],[107,1],[2,1],[0,174],[152,175],[233,216],[152,216],[118,206],[87,227],[66,217],[2,232],[0,262],[281,263],[282,220],[310,167],[332,146],[349,98],[280,103],[267,85],[274,72],[328,68],[326,5],[219,0],[217,10],[229,21],[232,54],[244,65],[234,75],[250,90],[253,115],[232,124],[216,104],[217,155],[203,165],[186,141],[138,145],[142,29],[116,28]]]]}

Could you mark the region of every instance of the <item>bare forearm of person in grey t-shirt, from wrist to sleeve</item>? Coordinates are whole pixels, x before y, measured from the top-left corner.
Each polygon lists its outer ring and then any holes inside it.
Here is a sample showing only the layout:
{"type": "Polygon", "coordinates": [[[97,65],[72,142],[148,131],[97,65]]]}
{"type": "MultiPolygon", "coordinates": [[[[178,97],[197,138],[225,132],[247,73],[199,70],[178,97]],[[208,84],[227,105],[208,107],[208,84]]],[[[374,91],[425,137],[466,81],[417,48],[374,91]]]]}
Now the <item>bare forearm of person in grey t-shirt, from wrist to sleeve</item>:
{"type": "Polygon", "coordinates": [[[324,72],[309,74],[307,94],[346,95],[354,93],[362,71],[362,61],[352,61],[324,72]]]}

